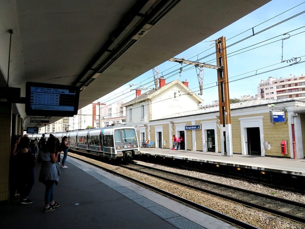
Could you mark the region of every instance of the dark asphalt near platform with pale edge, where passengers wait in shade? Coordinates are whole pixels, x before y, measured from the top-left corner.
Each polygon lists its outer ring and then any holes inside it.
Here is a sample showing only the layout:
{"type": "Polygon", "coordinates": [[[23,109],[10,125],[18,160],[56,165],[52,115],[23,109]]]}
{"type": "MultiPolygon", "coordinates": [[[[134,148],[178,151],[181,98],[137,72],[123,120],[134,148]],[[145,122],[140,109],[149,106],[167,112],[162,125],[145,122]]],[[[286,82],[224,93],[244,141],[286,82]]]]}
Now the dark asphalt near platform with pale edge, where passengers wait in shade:
{"type": "Polygon", "coordinates": [[[29,196],[34,202],[14,199],[0,206],[1,228],[234,228],[69,156],[66,165],[54,186],[58,208],[43,212],[45,186],[38,182],[36,163],[29,196]]]}

